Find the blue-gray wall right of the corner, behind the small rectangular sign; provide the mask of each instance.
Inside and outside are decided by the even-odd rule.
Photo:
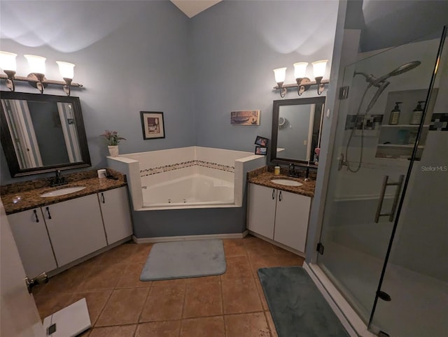
[[[197,145],[253,151],[255,136],[270,138],[280,99],[272,69],[288,67],[285,83],[295,83],[293,63],[331,59],[336,16],[337,1],[223,1],[193,17]],[[260,126],[231,126],[235,110],[261,110]]]

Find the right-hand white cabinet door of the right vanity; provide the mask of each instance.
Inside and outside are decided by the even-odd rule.
[[[311,198],[278,191],[274,241],[305,251]]]

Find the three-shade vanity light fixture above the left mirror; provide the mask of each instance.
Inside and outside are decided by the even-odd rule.
[[[15,76],[16,64],[15,57],[17,54],[13,52],[0,51],[0,68],[6,75],[0,74],[1,80],[6,80],[6,87],[10,91],[15,91],[14,81],[26,81],[32,87],[35,87],[43,94],[43,89],[48,85],[61,85],[67,96],[70,96],[71,87],[83,87],[79,83],[73,83],[73,68],[74,64],[69,62],[57,61],[59,72],[64,78],[64,81],[47,80],[45,78],[45,57],[36,55],[24,55],[28,61],[31,73],[27,77]]]

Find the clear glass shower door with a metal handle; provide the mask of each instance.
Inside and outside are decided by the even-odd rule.
[[[413,124],[414,110],[428,100],[438,42],[400,45],[344,71],[317,263],[366,324],[376,295],[389,300],[377,288],[403,184],[425,148],[429,127]]]

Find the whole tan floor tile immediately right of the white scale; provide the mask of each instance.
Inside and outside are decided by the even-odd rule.
[[[114,290],[96,325],[102,327],[137,323],[148,291],[148,288]]]

